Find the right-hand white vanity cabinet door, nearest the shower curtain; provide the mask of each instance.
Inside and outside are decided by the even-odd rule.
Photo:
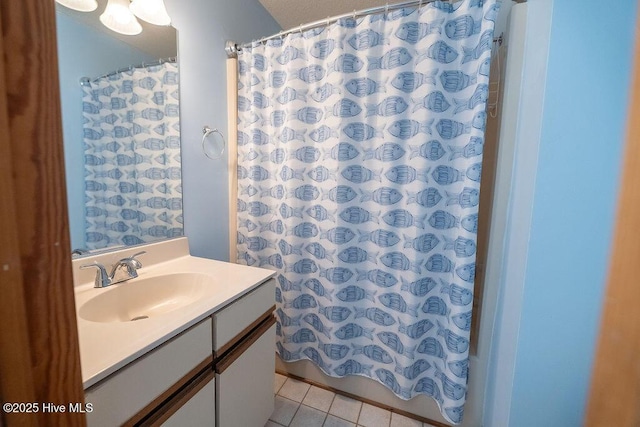
[[[217,427],[262,427],[273,412],[276,327],[254,332],[216,365]]]

